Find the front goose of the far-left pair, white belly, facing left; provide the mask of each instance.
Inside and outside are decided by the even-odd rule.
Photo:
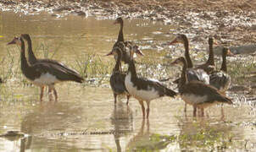
[[[20,66],[21,71],[25,75],[25,78],[31,81],[41,88],[40,100],[42,101],[44,86],[48,86],[49,92],[53,90],[55,101],[58,100],[57,91],[54,84],[63,81],[75,81],[82,83],[83,79],[77,75],[70,73],[63,68],[52,62],[36,62],[29,64],[25,57],[25,43],[22,37],[14,37],[13,41],[10,41],[8,45],[16,44],[20,46]]]

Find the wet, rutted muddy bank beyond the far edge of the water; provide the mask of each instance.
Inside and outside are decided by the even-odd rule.
[[[225,46],[252,44],[256,40],[255,2],[241,1],[0,1],[2,11],[39,14],[46,11],[56,18],[75,14],[82,17],[152,19],[175,25],[171,33],[185,33],[192,43],[204,45],[214,35]],[[203,43],[203,44],[202,44]]]

